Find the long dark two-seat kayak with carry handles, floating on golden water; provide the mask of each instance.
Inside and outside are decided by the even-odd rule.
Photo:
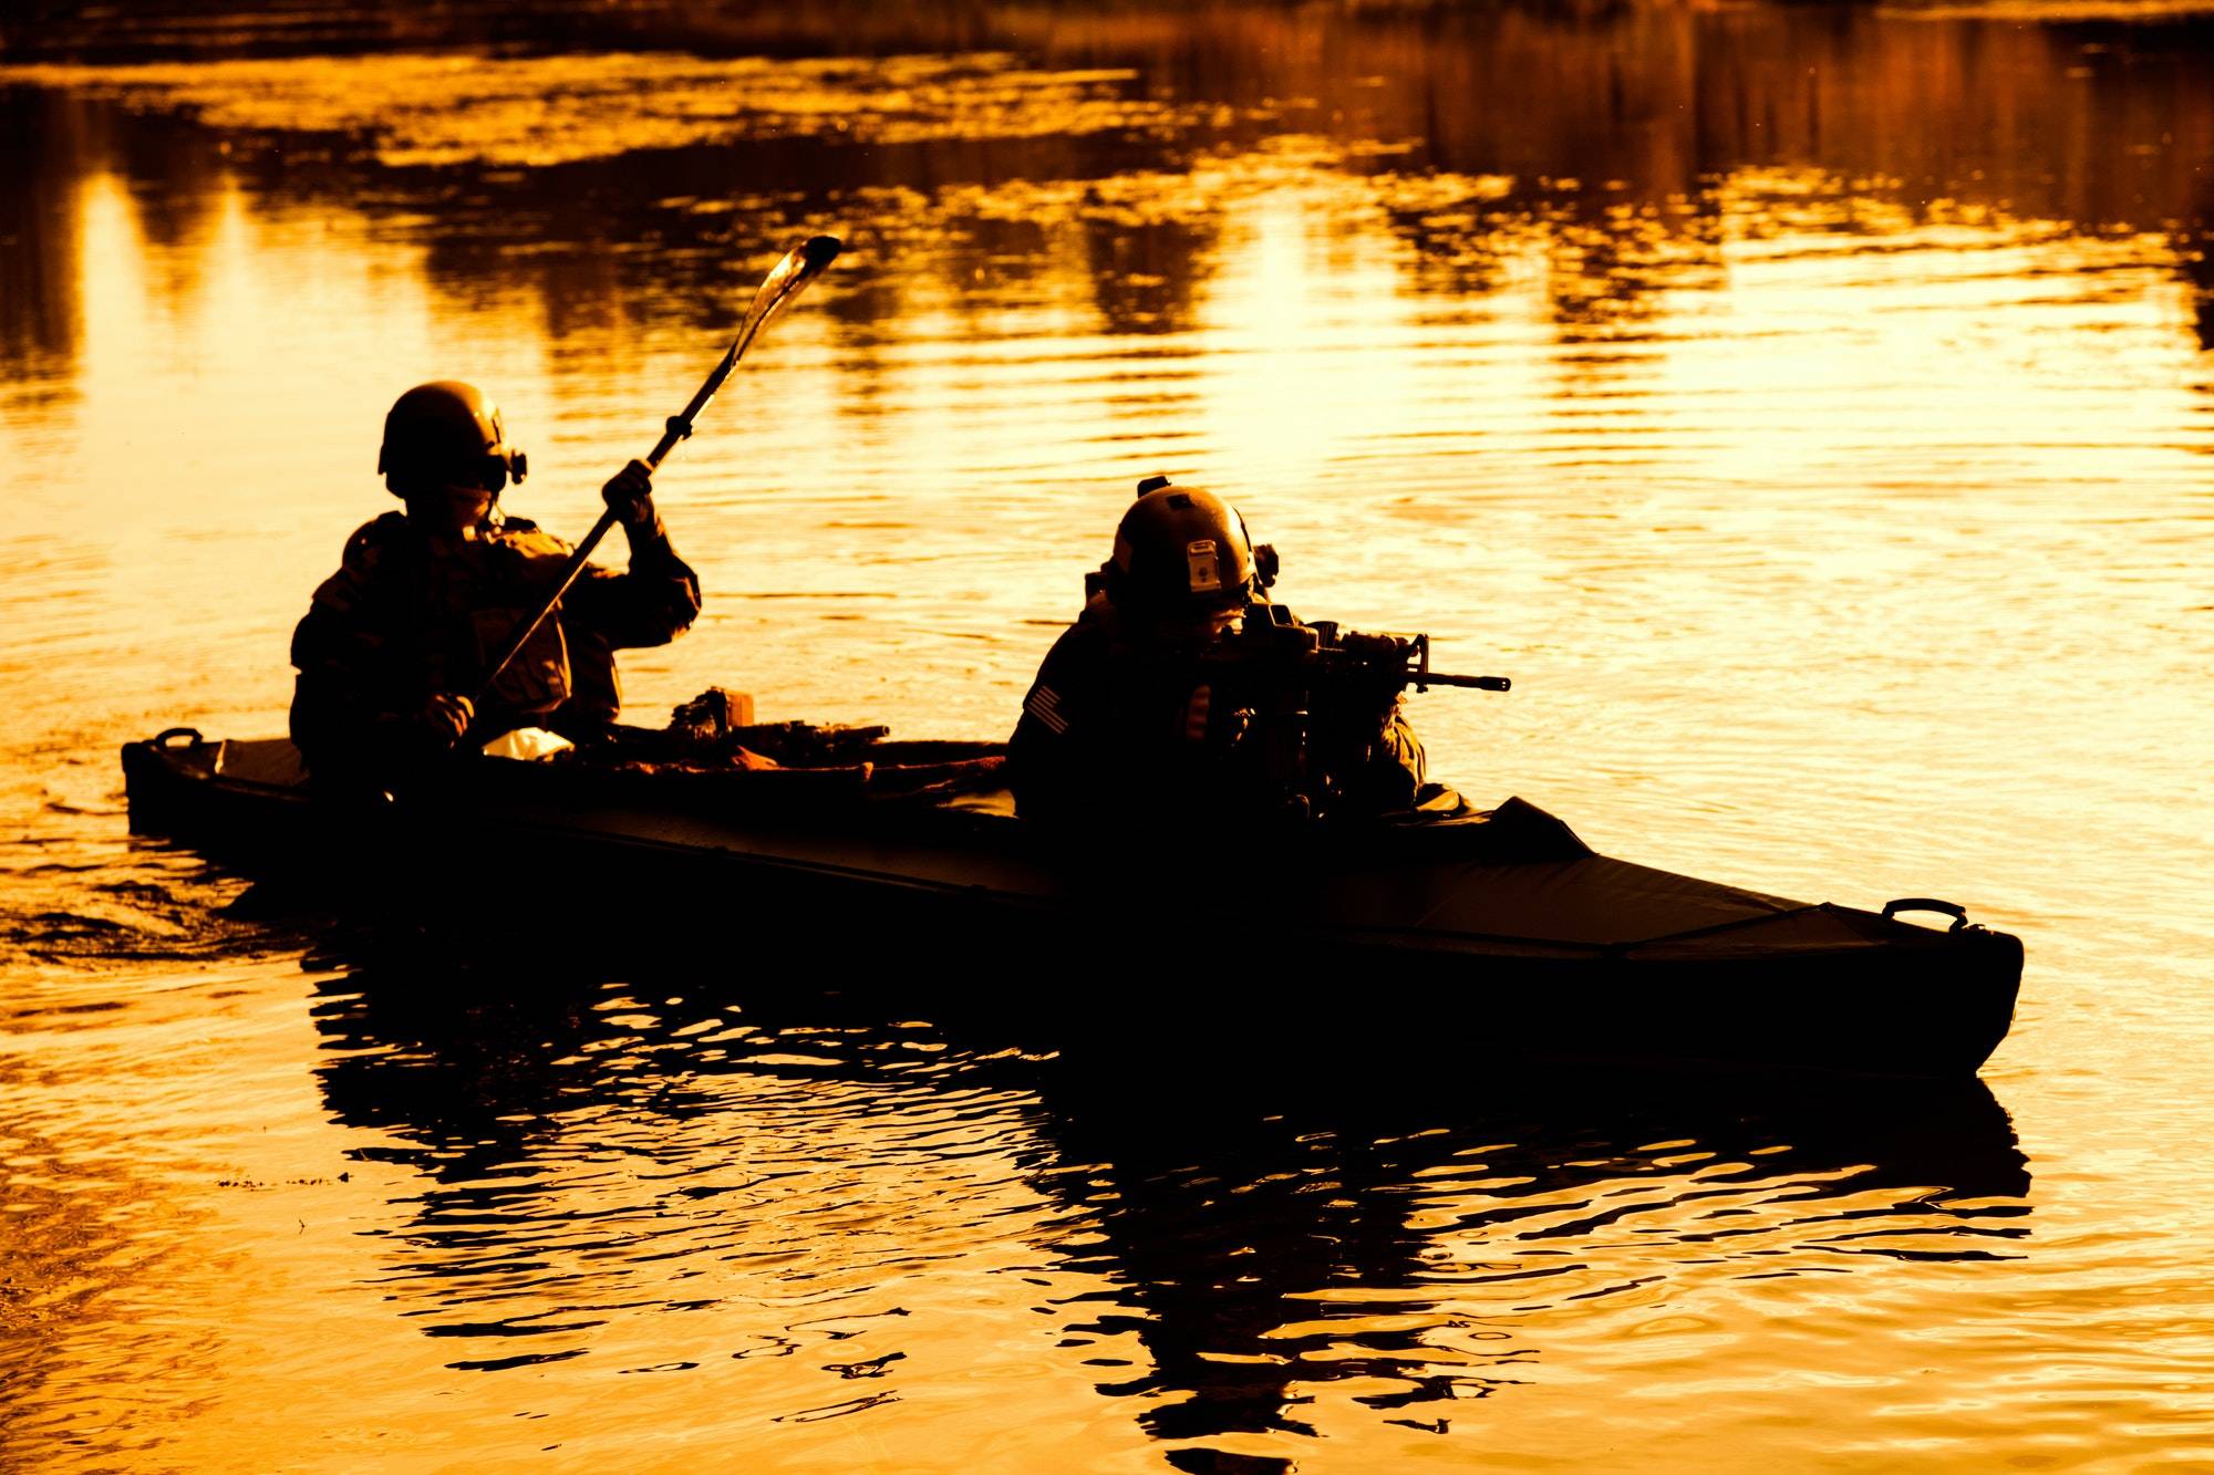
[[[1466,1070],[1957,1079],[2006,1039],[2021,981],[2021,941],[1953,904],[1869,912],[1636,866],[1523,800],[1291,826],[1231,857],[1134,853],[1018,819],[994,742],[779,724],[739,731],[744,762],[695,762],[622,731],[343,804],[281,738],[170,729],[122,762],[133,831],[248,877],[494,926],[646,915],[733,972],[1058,1008],[1087,1034],[1317,1067],[1421,1041]]]

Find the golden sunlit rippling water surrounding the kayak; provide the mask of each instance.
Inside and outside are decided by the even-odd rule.
[[[2214,1459],[2207,29],[793,27],[0,71],[0,1464]],[[742,912],[518,986],[126,835],[117,744],[281,731],[401,388],[582,532],[813,230],[633,713],[1003,733],[1173,472],[1514,678],[1417,700],[1472,795],[2019,932],[1984,1081],[1506,1085],[1357,981],[1419,1067],[1169,1083]]]

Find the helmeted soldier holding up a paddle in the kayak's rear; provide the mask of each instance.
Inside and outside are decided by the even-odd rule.
[[[571,547],[500,512],[500,489],[520,483],[527,463],[472,385],[401,394],[376,470],[407,509],[348,538],[292,633],[292,742],[323,784],[403,780],[463,735],[587,735],[622,706],[613,653],[666,644],[700,613],[700,578],[669,545],[651,470],[631,461],[600,492],[631,543],[629,571],[587,565],[480,693],[511,631],[560,582]]]

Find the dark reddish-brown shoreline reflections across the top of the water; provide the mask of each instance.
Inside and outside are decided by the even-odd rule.
[[[82,286],[64,228],[86,177],[117,168],[144,233],[190,244],[224,179],[252,195],[368,213],[427,235],[432,283],[472,299],[487,281],[536,292],[556,339],[677,317],[724,330],[739,264],[837,221],[868,286],[819,310],[863,330],[903,310],[903,286],[1043,270],[1045,230],[1085,233],[1109,332],[1182,332],[1215,270],[1238,199],[1131,193],[1269,137],[1322,137],[1335,168],[1377,179],[1377,204],[1415,248],[1424,288],[1481,295],[1503,244],[1537,230],[1563,332],[1634,332],[1656,292],[1705,264],[1722,272],[1727,188],[1760,171],[1846,182],[1853,210],[1908,219],[2004,213],[2079,233],[2172,233],[2214,345],[2214,22],[1902,22],[1866,7],[1815,13],[1678,7],[1280,7],[1200,13],[1114,7],[33,7],[0,22],[4,62],[330,55],[469,49],[498,55],[1012,55],[1067,69],[1127,111],[1085,133],[1001,137],[981,124],[857,140],[837,115],[773,117],[728,142],[620,146],[516,168],[503,159],[387,162],[376,126],[312,133],[179,128],[159,100],[126,109],[0,82],[0,126],[35,148],[0,155],[0,372],[24,392],[66,383]],[[168,27],[168,29],[164,29]],[[1386,84],[1379,84],[1388,80]],[[742,102],[742,97],[739,97]],[[182,104],[179,104],[182,106]],[[717,104],[722,106],[722,104]],[[733,104],[735,106],[735,104]],[[153,115],[144,115],[155,109]],[[184,109],[190,115],[190,109]],[[1109,109],[1114,115],[1114,109]],[[1902,128],[1900,117],[1933,126]],[[954,120],[956,124],[961,120]],[[965,124],[963,124],[965,126]],[[2108,164],[2119,162],[2119,164]],[[704,208],[702,182],[744,182]],[[1010,182],[1049,186],[1034,208]],[[1435,184],[1426,184],[1435,182]],[[1488,182],[1488,184],[1486,184]],[[1446,186],[1452,188],[1446,188]],[[897,208],[881,206],[897,193]],[[917,210],[912,199],[930,202]],[[1771,215],[1820,213],[1782,197]],[[401,226],[401,221],[405,221]],[[1851,219],[1835,228],[1851,228]],[[646,250],[609,250],[609,237]],[[190,290],[190,255],[177,292]],[[857,383],[868,388],[868,374]]]

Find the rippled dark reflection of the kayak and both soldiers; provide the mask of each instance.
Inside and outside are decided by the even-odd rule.
[[[700,977],[520,992],[387,966],[330,979],[317,1019],[334,1118],[418,1176],[383,1285],[454,1338],[447,1366],[653,1358],[686,1313],[684,1347],[793,1360],[748,1373],[786,1420],[821,1371],[897,1397],[941,1333],[932,1282],[990,1271],[1007,1236],[1049,1322],[1030,1355],[1087,1369],[1198,1468],[1344,1420],[1477,1433],[1457,1404],[1537,1380],[1561,1324],[1691,1335],[1711,1380],[1756,1382],[1731,1371],[1756,1349],[1665,1309],[2019,1258],[2028,1234],[1979,1083],[1468,1083],[1410,1041],[1328,1085],[1158,1092],[1138,1061],[742,1008]]]

